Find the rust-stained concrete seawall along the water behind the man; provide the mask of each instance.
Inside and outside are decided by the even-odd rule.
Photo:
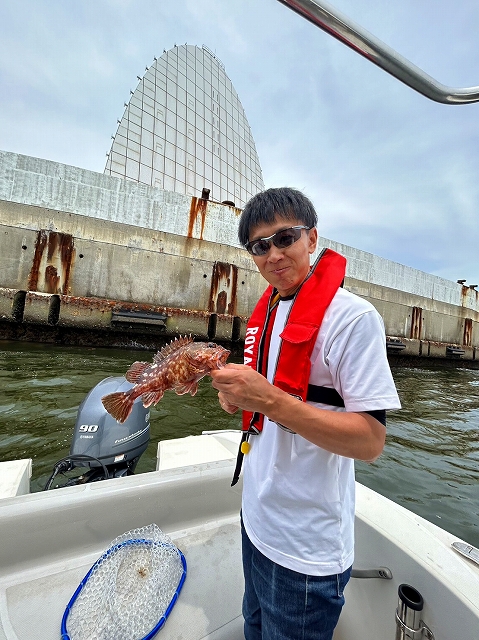
[[[0,337],[240,343],[264,281],[239,210],[0,152]],[[320,238],[384,319],[391,354],[479,361],[478,292]],[[93,338],[95,336],[95,338]],[[476,355],[477,352],[477,355]]]

